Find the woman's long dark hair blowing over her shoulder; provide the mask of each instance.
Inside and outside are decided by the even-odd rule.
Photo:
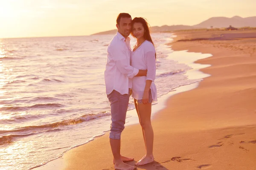
[[[149,24],[148,22],[146,21],[145,18],[143,17],[135,17],[132,21],[131,21],[131,30],[133,30],[133,26],[134,26],[134,23],[141,23],[143,25],[143,28],[145,30],[144,32],[144,38],[145,40],[148,40],[149,42],[151,42],[153,45],[154,45],[154,42],[150,36],[150,31],[149,31]],[[135,38],[134,34],[132,34],[132,31],[131,31],[131,35]],[[155,45],[154,45],[155,46]],[[155,54],[156,56],[156,54]],[[157,56],[156,56],[157,57]]]

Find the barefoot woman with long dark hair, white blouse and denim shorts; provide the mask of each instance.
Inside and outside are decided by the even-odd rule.
[[[132,96],[139,116],[144,143],[145,156],[137,161],[136,166],[154,161],[154,132],[151,125],[151,103],[157,101],[157,88],[154,84],[156,75],[156,51],[151,39],[148,23],[142,17],[132,20],[131,35],[137,39],[137,44],[131,52],[131,65],[134,68],[148,70],[147,76],[132,79]]]

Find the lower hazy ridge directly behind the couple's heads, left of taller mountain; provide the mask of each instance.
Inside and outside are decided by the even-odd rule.
[[[177,25],[177,26],[153,26],[150,28],[151,32],[166,32],[166,31],[175,31],[175,30],[184,30],[184,29],[195,29],[195,27],[192,26],[183,26],[183,25]],[[117,29],[113,29],[110,31],[104,31],[99,32],[93,35],[103,35],[103,34],[116,34]]]

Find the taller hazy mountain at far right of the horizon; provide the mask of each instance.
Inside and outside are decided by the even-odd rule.
[[[235,16],[232,18],[212,17],[200,24],[195,25],[194,27],[210,28],[211,26],[213,26],[213,28],[223,28],[223,27],[228,27],[230,25],[236,28],[247,27],[247,26],[256,27],[256,17],[247,17],[247,18],[242,18],[239,16]]]

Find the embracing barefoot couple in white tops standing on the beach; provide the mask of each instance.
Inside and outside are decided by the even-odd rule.
[[[151,39],[148,23],[142,17],[131,19],[131,15],[120,13],[116,19],[118,29],[108,45],[108,57],[105,68],[105,85],[111,105],[110,145],[116,170],[134,170],[125,164],[134,159],[120,154],[120,139],[125,128],[125,118],[130,95],[139,116],[144,143],[145,156],[136,166],[154,161],[154,132],[151,125],[151,103],[157,101],[157,88],[154,84],[156,74],[156,51]],[[131,35],[137,43],[131,49]]]

